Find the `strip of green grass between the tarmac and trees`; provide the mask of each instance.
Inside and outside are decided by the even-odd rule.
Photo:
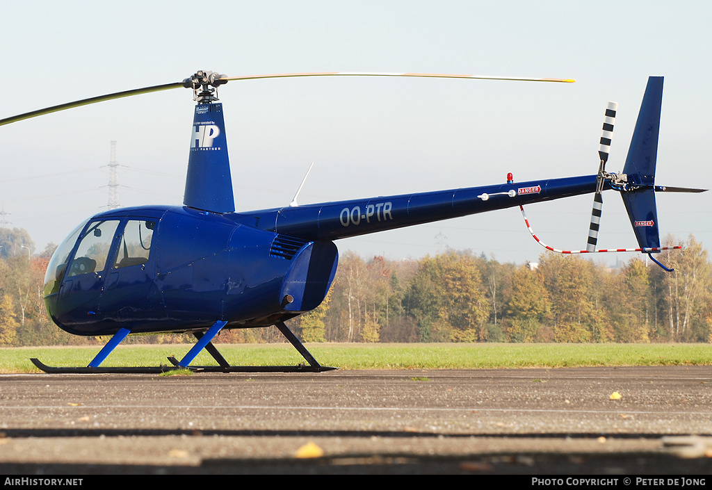
[[[217,344],[232,365],[305,363],[288,344]],[[321,365],[342,369],[562,368],[580,366],[710,365],[710,344],[338,344],[306,347]],[[181,359],[190,345],[119,346],[102,366],[157,366],[166,357]],[[0,349],[0,372],[39,372],[38,358],[51,366],[85,366],[100,347]],[[192,365],[217,365],[202,352]]]

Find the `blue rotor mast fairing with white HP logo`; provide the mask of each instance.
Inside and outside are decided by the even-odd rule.
[[[235,211],[220,103],[195,106],[183,204],[216,213]]]

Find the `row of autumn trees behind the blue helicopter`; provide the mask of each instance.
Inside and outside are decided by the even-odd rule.
[[[53,245],[33,254],[25,231],[0,229],[0,246],[0,345],[103,343],[64,333],[48,318],[41,293]],[[402,261],[347,252],[321,306],[288,325],[307,342],[712,342],[706,249],[690,236],[681,251],[656,259],[674,272],[639,257],[609,269],[590,256],[551,252],[538,264],[470,251]],[[130,339],[184,342],[189,335]],[[283,340],[276,328],[217,339]]]

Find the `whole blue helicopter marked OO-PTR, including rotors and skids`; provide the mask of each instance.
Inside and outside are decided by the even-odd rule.
[[[176,368],[219,372],[331,370],[320,365],[285,321],[317,308],[334,279],[334,241],[441,219],[595,194],[586,250],[596,250],[602,192],[622,195],[639,248],[661,247],[655,192],[702,189],[654,184],[662,77],[650,77],[622,173],[605,170],[616,106],[609,103],[597,174],[486,187],[355,199],[236,212],[226,131],[217,88],[231,80],[302,76],[411,76],[571,83],[570,79],[504,78],[426,73],[290,73],[228,77],[198,71],[181,82],[128,90],[56,105],[0,120],[0,125],[69,108],[189,88],[197,102],[183,206],[141,206],[95,214],[58,246],[48,264],[44,300],[54,323],[74,335],[112,335],[87,367],[59,368],[32,362],[45,372],[161,372]],[[527,222],[528,224],[528,222]],[[531,228],[530,228],[531,231]],[[532,232],[533,234],[533,232]],[[534,235],[534,234],[533,234]],[[535,239],[538,239],[534,235]],[[679,248],[679,247],[674,247]],[[632,249],[617,249],[629,251]],[[653,259],[655,260],[655,259]],[[658,261],[656,261],[659,264]],[[662,265],[662,264],[660,264]],[[233,366],[211,340],[223,329],[276,325],[308,365]],[[129,334],[193,333],[197,343],[172,365],[109,368],[100,364]],[[206,349],[218,366],[191,366]]]

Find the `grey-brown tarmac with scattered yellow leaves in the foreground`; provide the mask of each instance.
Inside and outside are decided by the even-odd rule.
[[[0,375],[0,474],[711,472],[712,366]]]

